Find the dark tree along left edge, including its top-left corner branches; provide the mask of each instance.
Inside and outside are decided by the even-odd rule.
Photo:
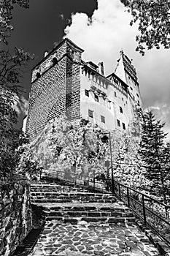
[[[13,4],[28,7],[28,0],[0,1],[0,43],[7,45],[12,26]],[[0,176],[12,178],[18,164],[20,154],[18,146],[25,143],[27,138],[23,132],[15,128],[18,115],[14,109],[15,102],[20,96],[20,83],[23,77],[23,68],[34,56],[15,48],[14,53],[9,50],[0,50]]]

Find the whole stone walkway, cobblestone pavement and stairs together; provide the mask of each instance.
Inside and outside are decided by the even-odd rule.
[[[158,256],[131,210],[112,194],[57,184],[34,184],[31,202],[45,229],[30,256]]]

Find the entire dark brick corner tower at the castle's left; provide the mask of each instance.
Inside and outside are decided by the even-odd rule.
[[[83,50],[69,39],[32,69],[26,132],[34,139],[48,121],[65,113],[80,118],[80,64]]]

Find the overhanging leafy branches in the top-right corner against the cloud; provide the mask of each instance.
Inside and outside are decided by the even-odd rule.
[[[170,48],[170,1],[169,0],[120,0],[133,19],[139,23],[139,35],[136,36],[136,51],[144,56],[144,51],[152,48]]]

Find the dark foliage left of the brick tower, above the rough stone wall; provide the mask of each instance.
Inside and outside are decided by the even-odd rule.
[[[9,177],[15,171],[19,154],[16,149],[25,138],[23,132],[15,128],[18,114],[14,109],[20,95],[20,78],[23,67],[33,59],[30,53],[15,48],[15,53],[0,51],[0,162],[1,175]]]

